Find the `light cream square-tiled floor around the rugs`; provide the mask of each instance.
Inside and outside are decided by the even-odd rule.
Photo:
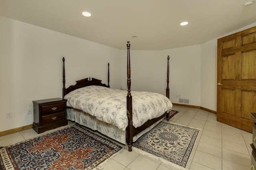
[[[178,110],[170,121],[200,128],[197,143],[190,156],[190,170],[250,170],[252,133],[216,121],[216,115],[202,109],[173,106]],[[69,122],[68,125],[72,125]],[[63,127],[59,127],[60,129]],[[54,131],[56,129],[50,130]],[[46,131],[44,133],[49,133]],[[8,146],[41,134],[33,129],[0,137],[0,146]],[[158,160],[127,148],[98,167],[103,170],[175,170]]]

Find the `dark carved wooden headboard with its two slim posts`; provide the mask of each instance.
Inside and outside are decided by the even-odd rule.
[[[104,86],[104,87],[110,87],[109,86],[109,63],[108,63],[108,85],[102,84],[101,80],[98,80],[96,78],[84,78],[82,80],[77,80],[75,85],[69,86],[68,88],[65,88],[65,58],[63,57],[63,88],[62,88],[62,98],[69,92],[72,92],[73,90],[76,90],[78,88],[86,87],[86,86]]]

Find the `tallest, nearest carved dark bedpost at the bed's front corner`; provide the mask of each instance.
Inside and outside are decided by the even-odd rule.
[[[126,97],[127,101],[127,117],[128,117],[128,127],[126,129],[127,134],[127,144],[128,150],[132,151],[132,95],[131,95],[131,67],[130,67],[130,41],[127,41],[127,87],[128,93]]]

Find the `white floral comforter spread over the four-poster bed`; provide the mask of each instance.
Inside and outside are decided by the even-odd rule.
[[[146,121],[172,109],[170,100],[158,93],[132,91],[132,123],[140,127]],[[128,126],[126,115],[127,91],[87,86],[67,94],[67,106],[80,109],[96,119],[115,125],[123,131]]]

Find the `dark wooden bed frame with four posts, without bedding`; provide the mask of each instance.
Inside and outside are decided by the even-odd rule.
[[[169,98],[170,90],[169,90],[169,59],[170,57],[167,57],[167,87],[166,87],[166,97]],[[73,90],[76,90],[78,88],[86,87],[86,86],[104,86],[104,87],[110,87],[109,86],[109,63],[108,63],[108,85],[102,84],[101,80],[98,80],[96,78],[84,78],[82,80],[76,81],[76,84],[74,86],[69,86],[68,88],[65,88],[65,58],[63,57],[63,89],[62,89],[62,98],[69,92],[72,92]],[[126,141],[128,145],[128,150],[132,151],[132,143],[133,143],[133,137],[137,135],[138,133],[142,132],[147,127],[150,127],[160,119],[164,118],[166,116],[167,121],[169,120],[169,113],[166,113],[160,117],[148,120],[146,123],[144,123],[142,126],[135,128],[132,125],[132,94],[131,94],[131,71],[130,71],[130,42],[127,41],[127,88],[128,93],[126,96],[127,100],[127,117],[128,117],[128,127],[126,128]]]

